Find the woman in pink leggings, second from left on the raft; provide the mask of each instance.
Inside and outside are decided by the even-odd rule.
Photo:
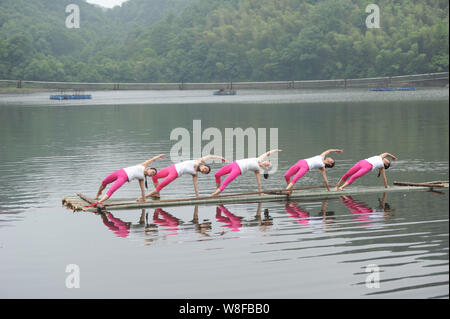
[[[199,197],[198,193],[198,184],[197,184],[197,173],[201,172],[202,174],[209,174],[211,172],[211,167],[209,165],[204,164],[205,161],[209,159],[220,159],[222,162],[225,162],[226,160],[222,156],[216,156],[216,155],[207,155],[204,156],[198,160],[190,160],[190,161],[184,161],[177,164],[172,164],[169,167],[163,168],[162,170],[158,171],[156,175],[152,176],[153,184],[155,185],[155,190],[151,193],[145,195],[145,197],[153,197],[153,198],[159,198],[160,194],[159,192],[172,183],[175,179],[178,177],[181,177],[184,174],[189,174],[192,176],[193,183],[194,183],[194,190],[195,190],[195,196]],[[164,178],[164,180],[161,183],[158,183],[158,180]]]

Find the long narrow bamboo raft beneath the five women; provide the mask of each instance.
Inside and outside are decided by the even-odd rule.
[[[251,203],[251,202],[273,202],[286,200],[323,200],[336,198],[339,196],[353,196],[376,194],[384,192],[412,192],[412,191],[434,191],[436,189],[448,189],[448,181],[446,182],[429,182],[429,183],[410,183],[410,182],[394,182],[394,186],[384,187],[365,187],[356,188],[349,187],[343,191],[332,189],[327,191],[324,186],[311,186],[303,188],[295,188],[288,195],[284,190],[267,190],[263,192],[228,194],[216,197],[199,197],[199,198],[182,198],[169,200],[147,200],[146,202],[137,202],[136,198],[117,198],[105,201],[102,209],[119,210],[119,209],[142,209],[142,208],[160,208],[170,206],[189,206],[189,205],[220,205],[235,203]],[[68,209],[74,211],[99,211],[97,207],[85,207],[95,203],[95,200],[81,193],[74,197],[63,197],[62,204]]]

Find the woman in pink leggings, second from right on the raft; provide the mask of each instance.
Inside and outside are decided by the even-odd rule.
[[[311,169],[318,168],[322,173],[323,181],[325,182],[325,186],[328,190],[330,190],[330,186],[328,185],[327,174],[325,172],[325,168],[332,168],[334,166],[334,159],[331,157],[326,157],[330,153],[342,153],[343,150],[338,149],[329,149],[323,152],[320,155],[310,157],[307,159],[299,160],[295,163],[288,171],[284,174],[284,179],[288,184],[286,190],[290,193],[292,192],[292,188],[295,183],[303,177]],[[291,180],[291,177],[294,176]]]

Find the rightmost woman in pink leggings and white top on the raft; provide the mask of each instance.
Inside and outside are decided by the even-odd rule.
[[[356,179],[376,169],[378,169],[378,177],[380,177],[380,175],[383,177],[384,187],[389,188],[387,184],[386,170],[389,166],[391,166],[391,162],[389,162],[386,157],[390,157],[394,161],[397,160],[397,157],[394,155],[383,153],[359,161],[352,168],[350,168],[344,176],[341,177],[339,182],[336,184],[336,190],[343,190],[348,185],[351,185]],[[344,185],[339,187],[339,185],[343,182],[345,182]]]

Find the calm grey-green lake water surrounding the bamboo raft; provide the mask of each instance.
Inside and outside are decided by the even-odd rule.
[[[106,216],[61,205],[77,192],[93,196],[116,169],[170,154],[171,132],[193,138],[194,120],[222,134],[265,128],[267,141],[277,128],[283,152],[264,189],[283,187],[290,165],[328,148],[344,150],[331,155],[333,185],[383,152],[399,158],[390,183],[448,180],[448,89],[89,93],[88,101],[0,95],[1,298],[448,298],[448,191]],[[167,156],[154,166],[169,164]],[[297,186],[321,183],[308,172]],[[382,180],[371,173],[351,187],[375,185]],[[214,186],[212,175],[199,178],[202,195]],[[226,193],[255,188],[247,174]],[[193,194],[186,176],[162,191]],[[114,194],[137,196],[137,182]],[[66,286],[69,265],[79,288]]]

